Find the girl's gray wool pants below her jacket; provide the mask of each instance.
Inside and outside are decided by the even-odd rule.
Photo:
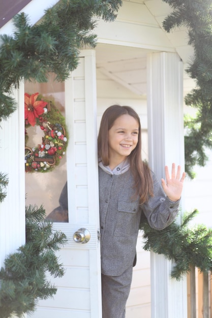
[[[125,318],[132,273],[131,266],[120,276],[102,274],[102,318]]]

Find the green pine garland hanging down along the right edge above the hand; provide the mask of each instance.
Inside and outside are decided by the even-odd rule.
[[[194,178],[193,167],[205,166],[205,149],[212,148],[212,4],[211,0],[163,1],[173,8],[163,22],[165,30],[185,25],[189,44],[194,48],[187,72],[197,86],[185,98],[186,105],[197,109],[195,118],[185,117],[185,166],[187,174]]]

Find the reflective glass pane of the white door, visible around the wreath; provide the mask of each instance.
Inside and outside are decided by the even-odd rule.
[[[25,92],[39,92],[44,97],[53,97],[55,106],[65,116],[65,83],[54,81],[53,74],[47,83],[25,82]],[[27,128],[27,145],[31,148],[42,143],[43,132],[39,126]],[[26,205],[43,205],[47,219],[68,222],[67,162],[66,154],[51,172],[25,173]]]

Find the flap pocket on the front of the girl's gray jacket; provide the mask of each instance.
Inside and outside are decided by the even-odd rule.
[[[118,201],[114,236],[136,235],[139,202]]]

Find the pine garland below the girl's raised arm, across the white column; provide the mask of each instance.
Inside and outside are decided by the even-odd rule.
[[[152,229],[144,215],[140,224],[144,233],[143,248],[173,261],[171,277],[177,280],[187,274],[191,266],[205,273],[212,271],[212,229],[204,225],[189,227],[197,213],[198,210],[185,213],[182,224],[175,221],[161,231]]]

